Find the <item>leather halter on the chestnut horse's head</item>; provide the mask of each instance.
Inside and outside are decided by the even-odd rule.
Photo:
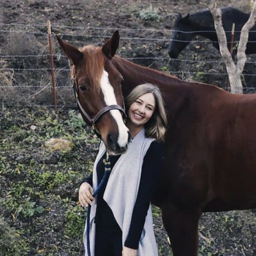
[[[125,104],[123,103],[124,108],[122,108],[119,105],[108,105],[106,107],[103,107],[102,110],[100,110],[93,118],[91,118],[88,113],[84,110],[79,98],[78,98],[78,85],[77,85],[77,79],[75,78],[75,71],[74,74],[72,75],[71,78],[71,84],[72,84],[72,88],[74,91],[74,95],[75,95],[75,99],[77,101],[77,105],[79,108],[79,111],[83,114],[83,116],[86,117],[88,123],[90,126],[92,126],[93,131],[95,132],[95,134],[98,136],[99,139],[101,139],[101,134],[99,134],[99,132],[95,129],[95,124],[96,122],[99,120],[99,118],[104,115],[106,112],[110,111],[110,110],[120,110],[126,119],[126,113],[125,113]],[[124,102],[124,99],[123,99]]]

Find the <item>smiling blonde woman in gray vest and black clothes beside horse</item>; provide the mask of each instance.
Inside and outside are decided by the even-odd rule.
[[[167,117],[162,95],[153,84],[135,87],[126,98],[127,127],[132,141],[123,155],[110,156],[111,173],[95,198],[104,172],[101,143],[93,174],[80,183],[79,201],[92,205],[90,248],[96,256],[158,255],[150,208],[162,168]],[[86,237],[84,238],[86,240]],[[84,243],[86,248],[86,241]],[[86,249],[87,251],[87,249]]]

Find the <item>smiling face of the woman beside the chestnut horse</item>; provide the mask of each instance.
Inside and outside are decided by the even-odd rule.
[[[141,95],[129,108],[129,121],[131,124],[143,127],[149,121],[155,110],[153,93]]]

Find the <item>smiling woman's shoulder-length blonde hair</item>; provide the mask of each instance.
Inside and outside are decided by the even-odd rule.
[[[126,97],[125,106],[127,110],[129,110],[130,106],[136,101],[136,99],[141,95],[150,92],[153,93],[156,106],[153,115],[144,126],[145,135],[146,137],[151,137],[158,141],[164,141],[164,135],[167,129],[167,115],[164,109],[162,93],[157,86],[154,86],[151,83],[136,86]]]

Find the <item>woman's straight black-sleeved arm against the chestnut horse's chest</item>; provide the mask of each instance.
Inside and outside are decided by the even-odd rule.
[[[141,232],[162,165],[163,144],[153,141],[143,160],[138,196],[132,212],[129,233],[125,241],[125,246],[128,248],[138,249]]]

